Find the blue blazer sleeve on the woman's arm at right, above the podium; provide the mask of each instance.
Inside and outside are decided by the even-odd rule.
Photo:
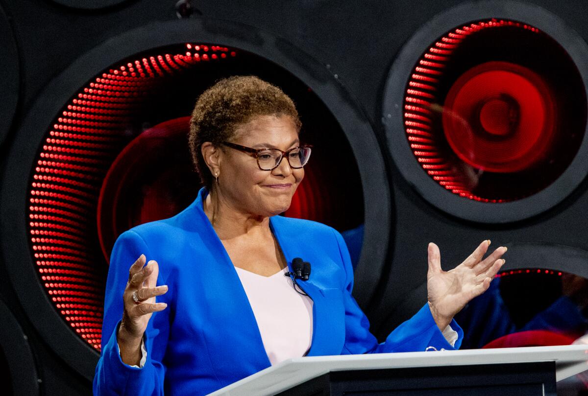
[[[378,344],[376,337],[369,331],[369,321],[355,298],[353,290],[353,267],[349,251],[341,234],[333,230],[339,252],[345,269],[345,287],[343,290],[343,304],[345,307],[345,344],[342,354],[387,353],[387,352],[417,352],[427,348],[433,350],[458,349],[463,339],[463,330],[452,320],[450,326],[457,331],[457,341],[452,347],[437,327],[428,303],[404,323],[400,324],[386,337],[386,341]]]

